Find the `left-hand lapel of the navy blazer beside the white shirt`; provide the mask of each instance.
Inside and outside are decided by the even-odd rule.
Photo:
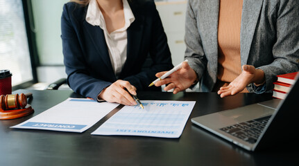
[[[107,68],[114,73],[103,30],[99,26],[92,26],[88,24],[87,21],[84,21],[83,26],[85,27],[92,43],[94,44],[94,48],[96,48],[97,53],[99,53],[98,56],[101,57]]]

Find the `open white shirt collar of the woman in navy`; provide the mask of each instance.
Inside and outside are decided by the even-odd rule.
[[[129,6],[129,3],[127,0],[122,0],[123,1],[123,12],[125,16],[125,26],[123,28],[120,28],[116,31],[123,31],[126,30],[130,24],[133,23],[135,20],[135,17],[133,15],[133,12]],[[103,17],[103,14],[98,6],[98,2],[96,0],[90,0],[89,1],[89,6],[87,8],[87,14],[85,17],[86,21],[91,24],[92,26],[100,26],[103,30],[106,30],[107,28],[105,25],[105,19]]]

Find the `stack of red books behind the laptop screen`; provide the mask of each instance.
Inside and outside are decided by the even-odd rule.
[[[273,97],[284,99],[291,90],[291,86],[295,83],[297,72],[277,75],[277,82],[273,82]]]

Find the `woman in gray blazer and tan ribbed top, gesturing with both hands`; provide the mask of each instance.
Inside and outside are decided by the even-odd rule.
[[[241,91],[264,93],[273,89],[276,75],[292,73],[299,68],[299,1],[244,0],[239,24],[239,75],[215,90],[219,82],[219,22],[223,0],[189,0],[185,26],[187,46],[182,68],[157,82],[168,84],[165,91],[178,93],[200,82],[200,91],[218,91],[221,97]],[[233,1],[227,6],[239,3]],[[234,7],[232,7],[233,10]],[[233,10],[228,10],[234,12]],[[229,18],[225,18],[229,19]],[[236,19],[237,20],[237,19]],[[237,22],[237,21],[236,21]],[[225,34],[224,34],[225,35]],[[224,55],[224,59],[225,59]],[[236,57],[237,58],[237,57]],[[165,72],[157,73],[160,77]]]

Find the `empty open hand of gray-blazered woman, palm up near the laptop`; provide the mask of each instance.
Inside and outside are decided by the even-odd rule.
[[[243,65],[243,71],[228,86],[222,86],[218,91],[221,98],[235,95],[243,91],[250,83],[262,84],[265,81],[264,71],[256,69],[255,66]]]

